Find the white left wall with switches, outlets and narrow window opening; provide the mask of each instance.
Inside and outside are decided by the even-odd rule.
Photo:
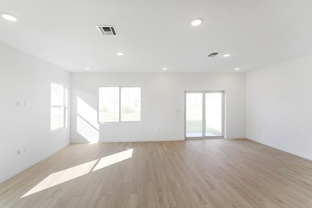
[[[70,73],[0,42],[0,182],[70,143],[69,128],[50,132],[51,81]]]

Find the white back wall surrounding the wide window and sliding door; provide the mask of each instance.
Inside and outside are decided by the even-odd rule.
[[[72,73],[71,83],[73,143],[184,139],[184,91],[196,90],[225,90],[226,138],[245,138],[245,74]],[[142,87],[141,122],[98,125],[98,86]]]

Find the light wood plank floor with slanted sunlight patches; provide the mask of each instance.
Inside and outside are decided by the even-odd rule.
[[[73,144],[0,184],[0,207],[312,208],[312,161],[247,139]]]

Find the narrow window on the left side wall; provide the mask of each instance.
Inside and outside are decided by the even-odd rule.
[[[51,132],[66,127],[65,86],[51,83]]]

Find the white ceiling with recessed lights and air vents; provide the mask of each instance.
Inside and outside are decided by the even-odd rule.
[[[312,0],[0,0],[0,12],[19,18],[0,18],[0,41],[70,72],[246,72],[312,53]]]

